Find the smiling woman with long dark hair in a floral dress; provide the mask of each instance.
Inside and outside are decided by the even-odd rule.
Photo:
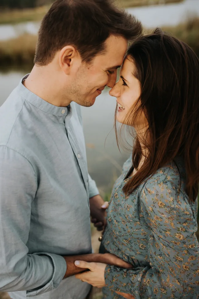
[[[133,269],[80,262],[91,271],[77,277],[108,299],[199,298],[199,60],[157,29],[131,45],[110,95],[136,139],[102,245]]]

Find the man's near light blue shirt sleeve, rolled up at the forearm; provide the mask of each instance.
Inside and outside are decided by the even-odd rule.
[[[36,191],[36,173],[27,158],[0,146],[0,291],[27,291],[27,297],[55,289],[67,268],[59,255],[28,254]]]

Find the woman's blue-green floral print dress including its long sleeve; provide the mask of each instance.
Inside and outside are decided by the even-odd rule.
[[[160,168],[130,195],[122,188],[132,159],[116,181],[102,246],[133,265],[132,270],[107,266],[103,298],[199,298],[197,200],[185,190],[185,168],[178,158]]]

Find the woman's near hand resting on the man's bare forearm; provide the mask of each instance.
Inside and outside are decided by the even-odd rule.
[[[103,286],[105,286],[104,272],[107,264],[75,261],[75,266],[84,269],[87,268],[90,270],[80,274],[76,274],[76,278],[98,288],[102,288]]]

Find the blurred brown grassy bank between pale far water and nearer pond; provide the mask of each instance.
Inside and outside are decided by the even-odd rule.
[[[130,1],[130,0],[129,0]],[[187,21],[176,27],[163,28],[193,48],[199,57],[199,18]],[[16,39],[0,42],[0,64],[5,65],[32,64],[35,54],[37,36],[24,34]]]

